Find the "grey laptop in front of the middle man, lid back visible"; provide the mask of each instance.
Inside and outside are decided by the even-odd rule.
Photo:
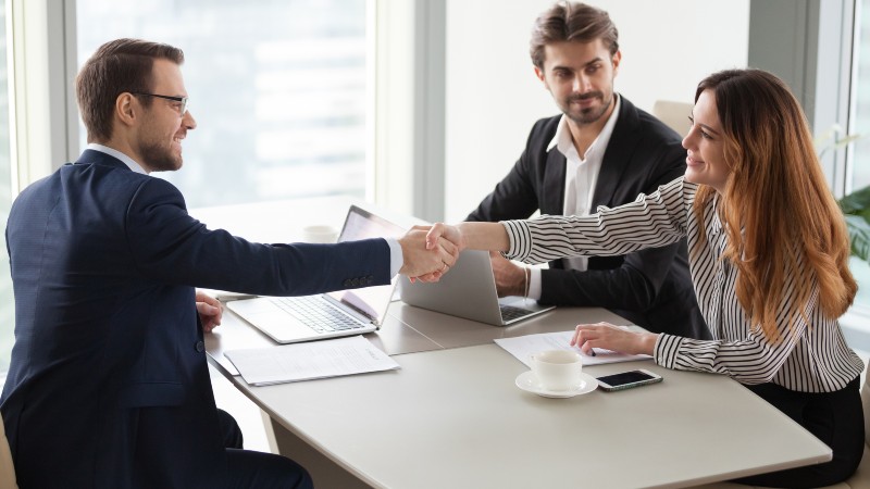
[[[508,326],[554,309],[521,297],[498,298],[489,253],[465,250],[440,280],[399,279],[401,300],[410,305],[496,326]]]

